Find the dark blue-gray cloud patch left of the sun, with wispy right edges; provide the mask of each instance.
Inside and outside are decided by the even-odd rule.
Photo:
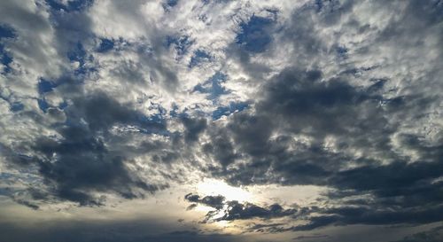
[[[166,128],[164,123],[149,121],[104,93],[75,98],[63,112],[73,124],[57,128],[61,137],[38,137],[30,144],[35,152],[30,159],[38,165],[53,195],[80,205],[100,205],[100,198],[91,197],[89,191],[115,191],[132,199],[143,196],[136,189],[153,192],[163,187],[143,181],[128,169],[125,162],[131,159],[130,154],[119,151],[123,145],[110,129],[120,124],[156,132]]]

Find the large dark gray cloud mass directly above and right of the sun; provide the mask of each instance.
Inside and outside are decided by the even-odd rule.
[[[385,152],[389,149],[385,135],[392,133],[393,128],[388,126],[384,110],[379,106],[382,98],[339,79],[322,81],[321,76],[320,71],[284,70],[265,86],[263,99],[255,105],[255,113],[232,116],[220,133],[231,135],[234,142],[231,147],[242,152],[242,157],[253,158],[253,163],[238,168],[238,174],[233,172],[235,167],[226,171],[233,176],[232,182],[260,183],[252,176],[273,179],[264,175],[272,168],[279,174],[275,179],[285,178],[283,183],[327,183],[324,178],[344,168],[352,159],[346,157],[346,153],[325,149],[323,142],[328,136],[337,137],[338,148],[344,150],[355,147],[367,152]],[[271,138],[274,132],[281,134]],[[294,142],[291,135],[310,137],[312,144],[299,143],[297,150],[291,152],[288,150]],[[229,144],[229,141],[221,142],[220,138],[215,137],[213,145]],[[232,162],[234,160],[230,160]],[[369,159],[361,162],[369,162]],[[225,163],[221,161],[221,164]],[[291,176],[293,173],[299,176]],[[278,180],[272,182],[279,183]]]

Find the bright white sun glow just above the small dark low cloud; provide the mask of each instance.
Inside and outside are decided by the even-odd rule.
[[[240,187],[234,187],[220,180],[204,179],[197,184],[198,194],[201,195],[221,195],[227,200],[237,200],[239,202],[253,201],[253,194]]]

